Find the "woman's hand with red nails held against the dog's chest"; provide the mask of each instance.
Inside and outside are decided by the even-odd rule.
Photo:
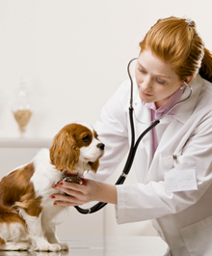
[[[53,187],[65,194],[55,193],[51,198],[55,199],[54,205],[81,206],[92,201],[117,204],[117,187],[86,180],[86,185],[61,182]]]

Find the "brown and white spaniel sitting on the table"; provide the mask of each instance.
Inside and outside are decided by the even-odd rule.
[[[28,164],[13,170],[0,182],[0,250],[67,250],[55,234],[54,219],[65,207],[54,206],[52,185],[66,174],[94,173],[104,144],[85,124],[70,124]],[[62,192],[61,192],[62,193]]]

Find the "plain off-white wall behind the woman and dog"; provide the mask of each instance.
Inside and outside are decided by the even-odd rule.
[[[11,105],[21,76],[34,112],[26,137],[52,138],[74,121],[93,125],[158,18],[191,17],[212,50],[211,7],[211,0],[0,0],[0,137],[19,136]],[[114,213],[109,223],[115,234]],[[134,223],[118,233],[139,230]]]

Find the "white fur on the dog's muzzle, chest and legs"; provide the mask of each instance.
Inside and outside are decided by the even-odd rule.
[[[93,133],[93,128],[89,128]],[[101,143],[93,136],[93,141],[88,147],[80,148],[80,157],[75,172],[83,175],[86,170],[91,170],[89,161],[96,161],[103,154],[103,150],[97,145]],[[103,144],[102,144],[103,145]],[[52,185],[57,184],[63,177],[61,171],[58,171],[50,163],[49,150],[42,149],[33,159],[35,172],[30,180],[34,185],[37,197],[41,197],[42,211],[39,217],[27,214],[24,209],[19,208],[20,216],[25,220],[27,228],[21,224],[1,223],[0,237],[5,240],[6,245],[0,246],[0,250],[33,250],[41,251],[60,251],[67,250],[66,243],[59,242],[55,235],[55,218],[65,207],[54,206],[53,199],[50,198],[56,192]],[[24,165],[23,165],[24,166]],[[63,193],[57,190],[57,193]]]

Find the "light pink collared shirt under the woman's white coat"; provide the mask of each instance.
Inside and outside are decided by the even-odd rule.
[[[179,88],[178,90],[176,90],[176,92],[172,95],[170,100],[168,100],[164,105],[162,105],[158,109],[156,108],[154,102],[146,103],[145,101],[142,100],[143,105],[148,107],[151,111],[151,121],[155,121],[159,119],[168,109],[172,107],[172,105],[178,102],[181,99],[184,90],[185,90],[185,86],[183,89]],[[178,108],[178,105],[173,107],[173,109],[168,113],[168,115],[174,115],[177,111],[177,108]],[[157,139],[157,133],[155,128],[152,128],[151,134],[152,134],[152,157],[153,157],[158,146],[158,139]]]

